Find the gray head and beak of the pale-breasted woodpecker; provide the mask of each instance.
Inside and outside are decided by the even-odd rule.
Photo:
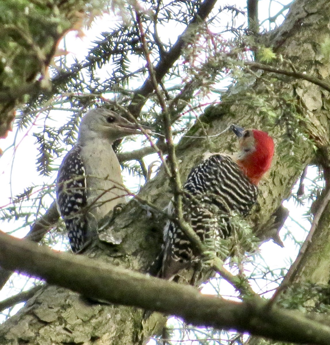
[[[92,109],[81,120],[78,141],[104,138],[114,142],[129,134],[142,134],[139,127],[146,128],[129,122],[114,111],[104,108]]]

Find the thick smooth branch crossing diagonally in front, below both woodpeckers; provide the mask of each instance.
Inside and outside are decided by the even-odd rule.
[[[175,314],[194,325],[237,329],[285,342],[317,345],[328,345],[330,342],[330,327],[311,321],[298,312],[267,308],[266,301],[259,297],[238,303],[202,295],[191,286],[142,275],[83,256],[56,253],[4,233],[0,233],[0,264],[86,296]]]

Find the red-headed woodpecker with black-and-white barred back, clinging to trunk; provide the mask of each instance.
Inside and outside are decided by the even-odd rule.
[[[236,125],[231,125],[231,130],[240,138],[237,156],[209,155],[191,170],[183,186],[183,216],[201,241],[228,237],[231,211],[248,215],[257,200],[257,185],[274,155],[274,142],[267,133]],[[164,229],[158,276],[173,277],[196,262],[199,254],[183,231],[169,222]]]

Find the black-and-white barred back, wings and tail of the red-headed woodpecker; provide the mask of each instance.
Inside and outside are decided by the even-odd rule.
[[[184,219],[201,241],[230,236],[230,211],[248,215],[256,203],[258,188],[236,162],[226,155],[212,155],[190,172],[184,184]],[[169,279],[180,269],[196,262],[199,253],[173,222],[164,230],[162,268],[159,275]]]

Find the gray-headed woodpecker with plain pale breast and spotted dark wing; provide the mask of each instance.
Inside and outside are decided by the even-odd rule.
[[[126,192],[114,141],[141,134],[138,126],[107,109],[89,110],[81,120],[77,144],[60,165],[57,208],[64,219],[72,252],[83,252],[98,236],[98,221]]]

